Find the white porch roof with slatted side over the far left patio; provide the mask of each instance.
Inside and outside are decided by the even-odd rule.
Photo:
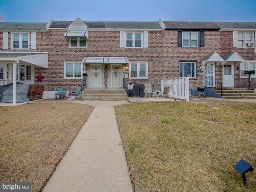
[[[0,62],[30,63],[43,68],[48,68],[48,52],[0,52]]]

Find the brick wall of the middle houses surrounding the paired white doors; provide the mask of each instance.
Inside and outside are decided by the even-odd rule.
[[[48,34],[48,36],[46,35]],[[42,74],[45,89],[53,90],[60,86],[66,90],[74,90],[80,86],[82,80],[64,80],[64,61],[82,61],[85,57],[121,57],[125,56],[129,61],[148,62],[148,80],[134,80],[134,82],[152,83],[157,85],[161,78],[156,73],[160,70],[154,70],[155,66],[159,68],[160,54],[162,53],[161,32],[149,32],[149,47],[142,49],[120,48],[119,31],[90,31],[88,48],[68,48],[68,41],[64,38],[64,32],[47,31],[37,34],[37,51],[48,51],[48,70],[36,67],[36,76]],[[104,85],[107,88],[107,68],[104,70]],[[128,71],[126,72],[128,74]],[[158,85],[159,86],[159,85]]]

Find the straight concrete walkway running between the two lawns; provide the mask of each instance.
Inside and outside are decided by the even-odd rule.
[[[128,102],[88,103],[94,110],[43,192],[133,192],[114,110]]]

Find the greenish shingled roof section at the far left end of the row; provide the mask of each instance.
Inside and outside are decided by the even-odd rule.
[[[0,30],[45,30],[47,23],[0,22]]]

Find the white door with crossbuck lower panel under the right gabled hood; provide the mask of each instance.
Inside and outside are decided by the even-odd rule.
[[[234,87],[234,64],[223,65],[222,83],[224,87]]]

